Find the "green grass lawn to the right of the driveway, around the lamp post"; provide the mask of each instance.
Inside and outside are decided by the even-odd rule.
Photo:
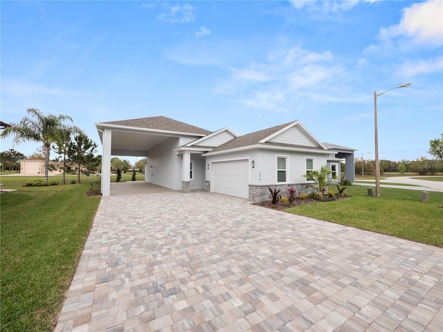
[[[352,197],[284,212],[443,247],[442,192],[429,192],[428,203],[419,190],[382,187],[380,197],[369,197],[366,187],[353,185],[346,194]]]

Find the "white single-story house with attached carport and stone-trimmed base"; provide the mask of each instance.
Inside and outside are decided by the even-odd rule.
[[[156,116],[96,123],[102,142],[102,194],[110,194],[111,156],[147,157],[145,181],[172,190],[206,190],[252,201],[268,188],[305,192],[307,172],[327,165],[354,182],[354,151],[320,142],[300,121],[244,136],[228,128],[208,131]]]

